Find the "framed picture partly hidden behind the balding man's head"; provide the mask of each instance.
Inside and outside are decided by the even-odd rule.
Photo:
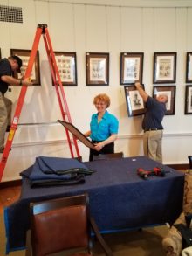
[[[176,86],[154,86],[153,97],[158,97],[161,94],[168,96],[168,102],[166,103],[167,113],[166,115],[175,114],[175,93]]]

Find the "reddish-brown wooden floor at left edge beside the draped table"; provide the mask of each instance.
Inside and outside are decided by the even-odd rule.
[[[17,199],[20,197],[20,193],[20,185],[0,188],[0,214],[3,213],[3,207],[17,201]]]

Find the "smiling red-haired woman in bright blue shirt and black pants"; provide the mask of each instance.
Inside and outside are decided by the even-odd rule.
[[[105,93],[94,97],[93,104],[98,113],[92,115],[90,130],[85,134],[95,143],[95,149],[90,149],[89,161],[93,161],[93,155],[114,153],[119,128],[117,118],[106,110],[110,106],[110,98]]]

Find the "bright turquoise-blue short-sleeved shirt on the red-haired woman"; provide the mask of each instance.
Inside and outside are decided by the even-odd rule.
[[[118,134],[119,121],[113,114],[107,111],[98,123],[98,114],[92,115],[90,123],[91,139],[96,142],[105,141],[112,134]]]

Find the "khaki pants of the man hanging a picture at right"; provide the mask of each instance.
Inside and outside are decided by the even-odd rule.
[[[147,131],[143,135],[144,155],[162,163],[162,130]]]

